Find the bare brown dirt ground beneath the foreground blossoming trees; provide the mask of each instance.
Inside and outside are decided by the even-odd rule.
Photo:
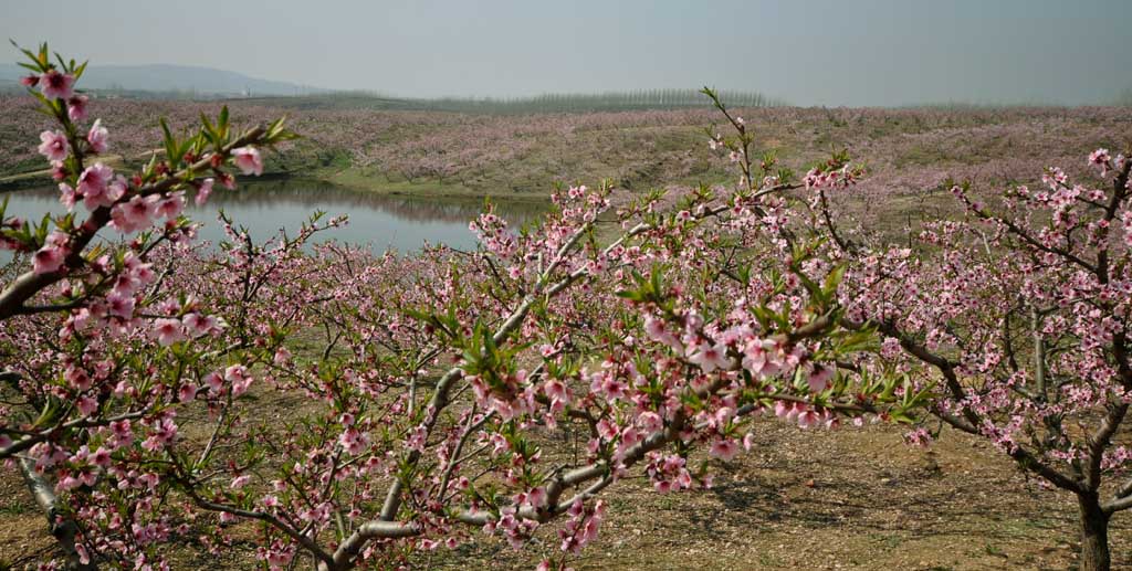
[[[600,539],[571,561],[577,571],[677,570],[1070,570],[1073,499],[1039,488],[987,443],[944,432],[928,449],[893,426],[803,432],[774,419],[757,444],[713,467],[712,490],[659,494],[643,479],[616,484]],[[533,569],[557,556],[540,533],[523,551],[484,538],[444,548],[417,569]],[[1132,566],[1132,518],[1110,531],[1114,568]],[[18,474],[0,471],[0,561],[33,565],[51,551],[42,516]],[[178,548],[174,569],[252,569],[251,548],[201,557]],[[0,569],[2,569],[0,564]]]

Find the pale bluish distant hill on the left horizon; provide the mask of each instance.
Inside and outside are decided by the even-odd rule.
[[[0,63],[0,89],[26,75],[14,63]],[[327,93],[327,89],[272,81],[223,69],[192,66],[91,66],[83,88],[114,92],[155,92],[190,97],[280,96]]]

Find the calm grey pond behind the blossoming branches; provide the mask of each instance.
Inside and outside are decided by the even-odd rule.
[[[44,213],[63,214],[55,188],[28,189],[0,194],[8,198],[6,216],[38,219]],[[517,227],[547,210],[547,202],[497,201],[496,210]],[[475,236],[468,223],[483,208],[477,199],[385,196],[335,187],[325,182],[281,180],[242,183],[235,191],[216,187],[208,204],[197,207],[191,197],[186,214],[203,223],[199,240],[217,243],[225,240],[217,214],[223,210],[237,226],[245,226],[257,242],[271,239],[281,227],[294,235],[316,210],[331,216],[348,215],[349,224],[319,234],[317,241],[336,240],[369,244],[376,253],[387,249],[412,252],[424,245],[443,243],[458,249],[475,248]],[[76,206],[82,219],[83,206]],[[325,218],[324,218],[325,219]],[[117,236],[111,230],[106,237]],[[10,254],[9,254],[10,258]]]

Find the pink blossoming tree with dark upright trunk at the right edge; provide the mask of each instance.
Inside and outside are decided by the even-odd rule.
[[[916,250],[852,242],[820,210],[830,256],[851,260],[843,325],[886,337],[932,415],[1073,493],[1091,571],[1109,569],[1108,520],[1132,508],[1132,161],[1098,149],[1088,164],[1094,182],[1049,168],[994,205],[954,185],[966,217],[928,222]]]

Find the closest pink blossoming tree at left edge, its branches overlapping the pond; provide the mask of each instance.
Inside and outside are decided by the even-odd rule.
[[[115,174],[98,161],[109,130],[98,120],[82,124],[89,109],[76,85],[86,66],[52,63],[46,46],[25,54],[33,73],[23,83],[59,126],[42,133],[38,150],[70,214],[22,220],[0,211],[0,246],[31,259],[0,292],[11,397],[0,409],[0,458],[24,471],[69,566],[93,559],[145,566],[149,545],[172,531],[155,505],[162,477],[144,468],[179,438],[171,406],[238,396],[250,377],[197,390],[207,378],[200,367],[254,360],[233,356],[249,338],[217,347],[230,341],[221,306],[169,287],[173,261],[191,254],[195,235],[181,215],[185,196],[199,197],[213,178],[231,183],[224,167],[233,149],[292,136],[281,122],[237,136],[224,110],[190,137],[165,127],[163,161]],[[123,241],[97,239],[108,226]]]

